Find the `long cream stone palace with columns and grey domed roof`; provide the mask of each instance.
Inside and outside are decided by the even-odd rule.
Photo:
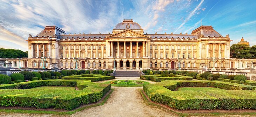
[[[27,41],[28,68],[42,68],[45,61],[45,68],[57,63],[63,69],[118,70],[198,69],[200,63],[229,69],[232,40],[212,26],[200,26],[191,34],[148,34],[133,20],[123,20],[112,34],[66,34],[56,26],[45,26]]]

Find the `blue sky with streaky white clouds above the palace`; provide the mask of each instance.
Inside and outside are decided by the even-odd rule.
[[[28,50],[29,34],[58,26],[66,34],[108,34],[133,19],[148,34],[213,26],[231,44],[256,44],[256,0],[0,0],[0,48]]]

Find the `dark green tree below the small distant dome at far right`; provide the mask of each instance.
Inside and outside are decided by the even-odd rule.
[[[232,57],[232,58],[251,58],[250,46],[247,44],[233,44],[230,47],[230,57]]]

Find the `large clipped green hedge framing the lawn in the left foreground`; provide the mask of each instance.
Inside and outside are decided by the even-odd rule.
[[[77,86],[79,90],[30,89],[41,86]],[[15,89],[17,87],[18,89]],[[110,84],[93,83],[88,80],[42,80],[8,84],[5,87],[0,85],[0,89],[11,89],[1,91],[0,105],[73,110],[82,104],[99,101],[110,87]]]

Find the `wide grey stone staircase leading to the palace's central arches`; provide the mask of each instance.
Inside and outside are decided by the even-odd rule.
[[[115,71],[115,77],[140,77],[140,71]]]

